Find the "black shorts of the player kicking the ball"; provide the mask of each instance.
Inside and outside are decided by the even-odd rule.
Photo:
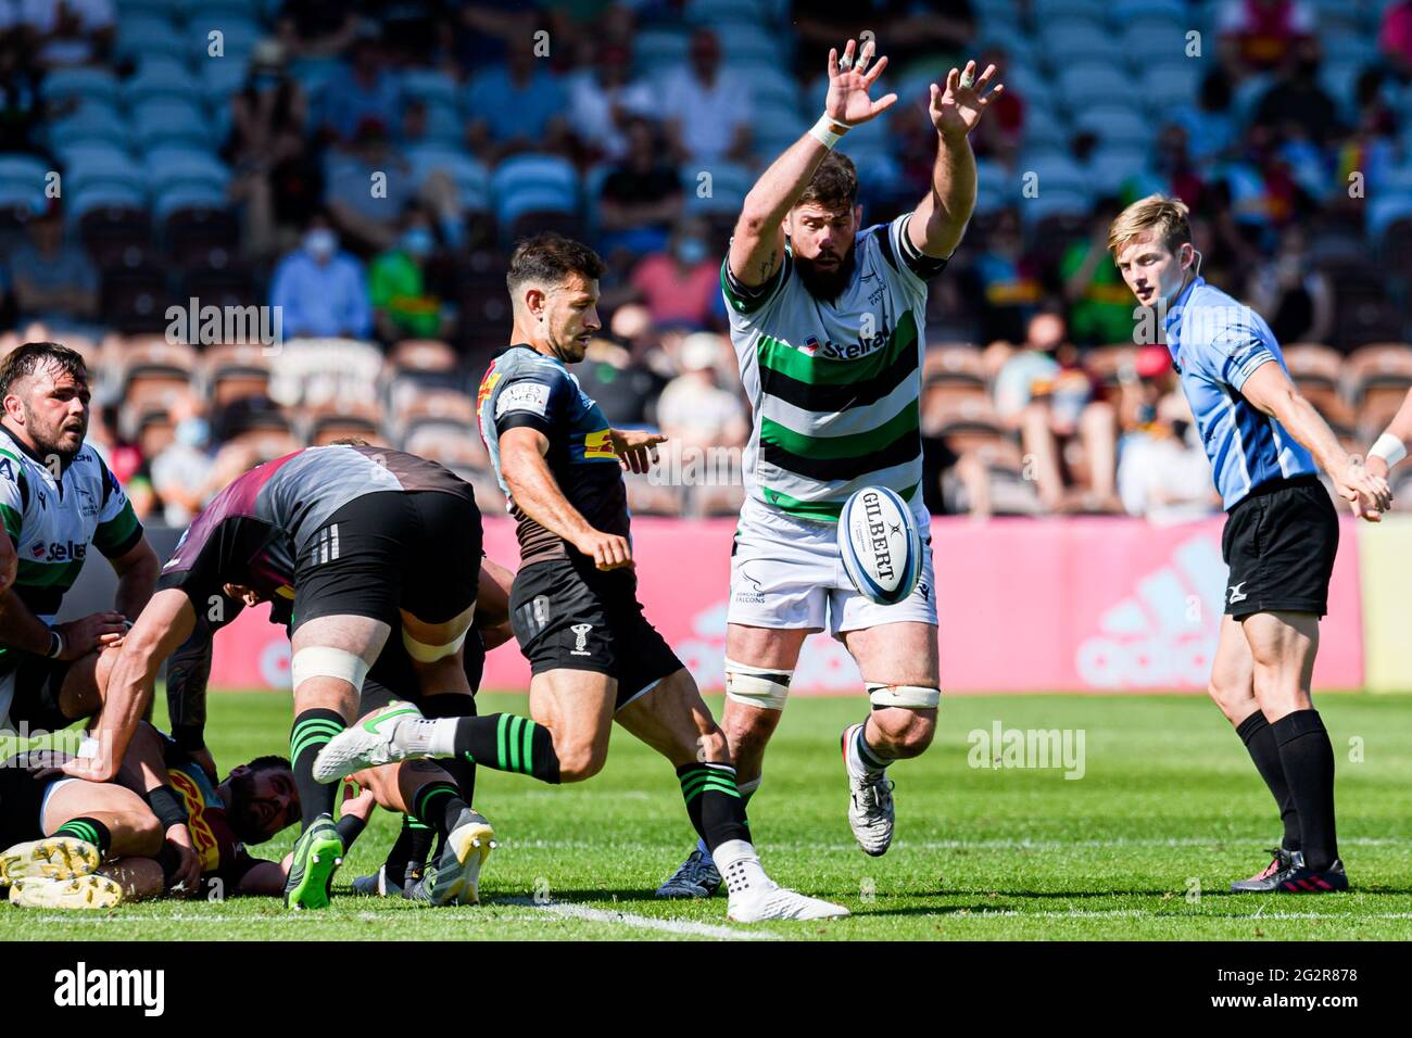
[[[642,616],[633,571],[600,572],[586,555],[521,568],[510,589],[510,626],[531,674],[568,669],[616,678],[614,709],[682,669],[666,638]]]

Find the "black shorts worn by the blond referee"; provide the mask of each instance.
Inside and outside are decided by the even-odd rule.
[[[1337,554],[1339,514],[1316,476],[1262,483],[1226,517],[1226,612],[1324,616]]]

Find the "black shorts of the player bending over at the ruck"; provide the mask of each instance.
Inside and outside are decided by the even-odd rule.
[[[394,630],[400,610],[445,623],[480,589],[480,508],[435,490],[380,490],[329,515],[294,568],[292,634],[321,616],[366,616]]]

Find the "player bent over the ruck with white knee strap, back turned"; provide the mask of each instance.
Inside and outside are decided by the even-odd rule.
[[[124,638],[97,726],[103,754],[68,774],[104,781],[152,699],[157,671],[229,593],[291,602],[295,720],[289,758],[302,832],[285,885],[291,908],[328,904],[343,845],[318,750],[359,715],[359,693],[388,634],[400,633],[424,695],[469,699],[462,645],[480,573],[470,484],[414,455],[322,446],[261,465],[217,494],[162,568]],[[479,823],[477,823],[479,825]],[[469,842],[465,846],[470,847]]]

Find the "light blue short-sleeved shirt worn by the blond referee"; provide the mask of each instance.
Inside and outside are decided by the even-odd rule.
[[[1278,421],[1240,394],[1267,362],[1289,374],[1260,314],[1197,277],[1168,309],[1163,329],[1227,511],[1261,483],[1319,470]]]

